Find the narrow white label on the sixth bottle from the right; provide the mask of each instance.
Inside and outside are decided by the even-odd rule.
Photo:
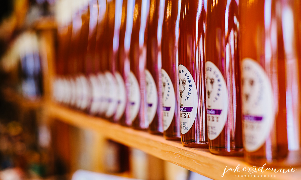
[[[130,81],[130,120],[133,122],[140,108],[140,87],[134,73],[131,71],[129,75]]]

